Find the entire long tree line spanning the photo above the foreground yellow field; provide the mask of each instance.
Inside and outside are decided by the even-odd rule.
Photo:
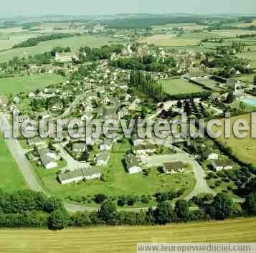
[[[139,212],[118,211],[113,201],[106,199],[98,211],[68,214],[62,201],[42,193],[23,190],[9,194],[0,191],[0,226],[11,228],[48,227],[65,229],[69,226],[84,227],[98,224],[108,225],[153,225],[171,222],[206,221],[227,219],[256,214],[256,178],[245,186],[244,204],[236,204],[227,194],[217,196],[205,194],[190,201],[169,200],[169,195],[158,199],[155,209]],[[172,198],[172,197],[171,197]],[[191,209],[191,206],[197,209]]]

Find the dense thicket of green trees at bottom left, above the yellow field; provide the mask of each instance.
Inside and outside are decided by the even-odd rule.
[[[24,190],[8,194],[0,190],[1,227],[49,227],[63,229],[69,216],[62,201]]]

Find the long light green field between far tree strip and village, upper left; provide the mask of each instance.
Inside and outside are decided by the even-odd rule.
[[[29,55],[34,56],[35,54],[42,54],[44,52],[51,51],[53,47],[70,47],[72,51],[75,52],[80,47],[101,47],[105,44],[109,44],[109,42],[110,37],[89,35],[65,39],[54,39],[47,42],[41,42],[34,47],[16,48],[0,52],[0,62],[7,62],[16,56],[22,58],[29,57]]]

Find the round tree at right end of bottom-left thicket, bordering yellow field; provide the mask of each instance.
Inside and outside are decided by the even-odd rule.
[[[57,209],[49,216],[49,229],[65,229],[70,222],[70,217],[65,209]]]

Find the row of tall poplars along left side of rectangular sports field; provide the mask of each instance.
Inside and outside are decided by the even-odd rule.
[[[129,83],[131,87],[136,87],[141,92],[146,93],[158,101],[162,101],[166,97],[166,92],[161,83],[153,80],[153,77],[149,74],[133,70],[131,71]]]

